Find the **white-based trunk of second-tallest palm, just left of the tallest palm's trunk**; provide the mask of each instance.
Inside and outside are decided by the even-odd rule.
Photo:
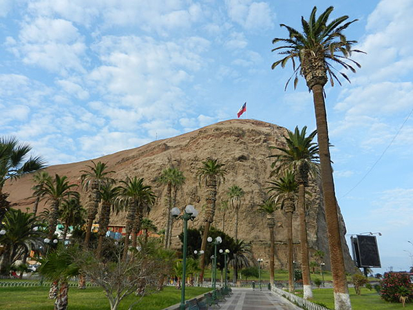
[[[301,271],[303,274],[304,299],[313,298],[310,280],[310,263],[308,262],[308,237],[306,225],[306,204],[304,184],[298,185],[298,216],[299,216],[299,240],[301,248]]]

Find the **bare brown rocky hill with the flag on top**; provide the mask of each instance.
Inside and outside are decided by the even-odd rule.
[[[114,178],[120,180],[126,176],[138,176],[145,178],[146,183],[153,187],[157,195],[156,203],[152,208],[149,218],[159,229],[165,228],[165,196],[166,188],[156,183],[162,169],[174,165],[178,167],[187,178],[184,186],[178,192],[178,206],[192,204],[200,215],[189,227],[200,227],[203,223],[203,206],[205,204],[206,188],[199,183],[196,177],[197,169],[201,162],[208,157],[218,158],[224,163],[228,174],[225,182],[218,189],[217,205],[226,200],[226,189],[232,185],[238,185],[244,189],[245,196],[240,207],[240,223],[238,225],[238,238],[251,241],[255,258],[264,258],[268,263],[269,236],[266,226],[266,217],[257,212],[257,204],[262,203],[266,197],[267,181],[271,172],[271,159],[273,154],[271,146],[282,146],[286,129],[253,120],[230,120],[216,123],[165,140],[153,141],[136,149],[129,149],[116,154],[96,158],[95,161],[106,162],[109,169],[114,170]],[[47,168],[54,175],[66,175],[71,182],[80,184],[80,171],[91,165],[91,161],[72,163],[67,165],[55,165]],[[25,209],[32,207],[34,198],[32,195],[31,176],[25,176],[13,183],[8,183],[4,192],[10,193],[9,200],[14,207]],[[328,240],[326,234],[326,220],[324,206],[320,198],[320,190],[317,184],[309,188],[313,195],[308,201],[307,223],[309,246],[314,251],[321,249],[328,255]],[[339,214],[342,219],[341,214]],[[275,241],[277,268],[286,268],[286,225],[284,225],[284,212],[275,212]],[[112,224],[124,224],[125,214],[119,214],[112,218]],[[173,225],[173,236],[180,234],[182,221]],[[342,233],[346,233],[343,220]],[[299,227],[298,216],[293,218],[295,260],[299,261]],[[222,212],[218,209],[215,213],[213,226],[222,229]],[[226,234],[234,235],[235,213],[233,210],[226,212],[224,229]],[[344,238],[343,238],[344,240]],[[173,238],[173,245],[178,246],[178,238]],[[313,251],[310,251],[313,253]],[[346,269],[353,269],[348,247],[344,240],[344,253]],[[329,268],[328,256],[325,259],[326,269]]]

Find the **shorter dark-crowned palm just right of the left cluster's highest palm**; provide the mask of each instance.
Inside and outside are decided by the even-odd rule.
[[[96,250],[98,258],[102,256],[103,239],[105,238],[107,227],[109,226],[111,210],[118,211],[116,200],[120,195],[120,187],[115,186],[112,181],[103,182],[99,189],[102,206],[99,214],[99,240]]]

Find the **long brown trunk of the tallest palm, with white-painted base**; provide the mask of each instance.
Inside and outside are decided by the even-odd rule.
[[[328,148],[328,126],[326,105],[324,103],[324,90],[321,85],[314,85],[313,100],[315,118],[317,123],[317,140],[319,144],[321,185],[323,187],[324,206],[326,209],[326,224],[328,233],[328,247],[330,249],[330,263],[332,284],[334,287],[335,309],[351,310],[350,296],[346,282],[346,269],[344,267],[343,250],[339,218],[337,214],[337,201],[335,198],[334,180],[330,150]]]

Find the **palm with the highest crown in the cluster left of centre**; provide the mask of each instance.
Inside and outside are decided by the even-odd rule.
[[[109,178],[109,174],[114,173],[114,171],[107,171],[107,163],[102,163],[98,161],[95,163],[92,161],[92,166],[86,165],[88,170],[81,170],[83,174],[81,175],[81,183],[85,191],[89,191],[89,202],[87,207],[87,228],[85,235],[84,247],[89,247],[90,234],[92,233],[92,226],[96,215],[98,214],[98,207],[100,203],[100,192],[99,189],[102,183],[107,180],[113,180]]]

